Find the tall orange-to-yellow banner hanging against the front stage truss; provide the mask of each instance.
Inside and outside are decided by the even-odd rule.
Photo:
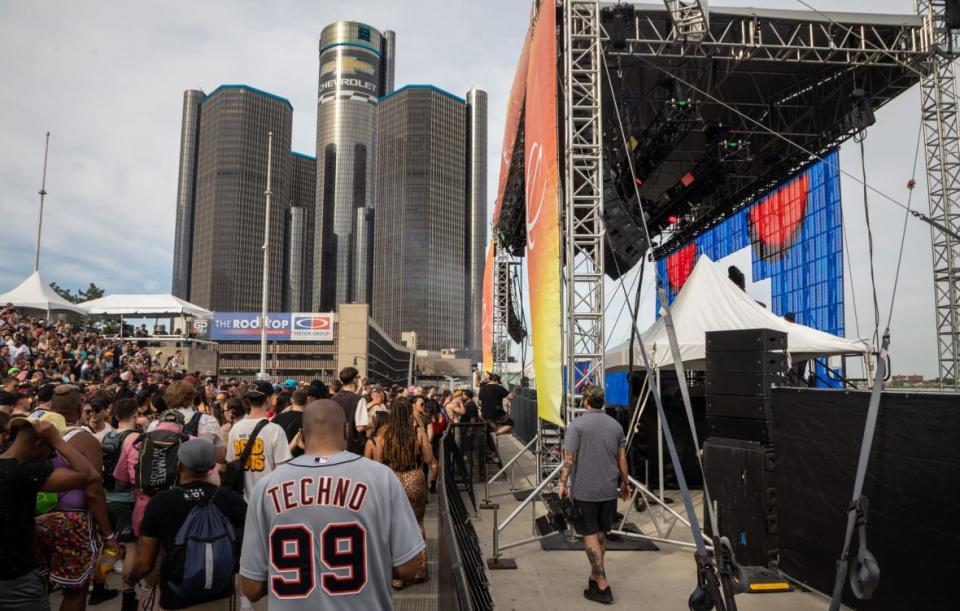
[[[560,299],[560,191],[557,147],[557,12],[540,4],[527,66],[524,144],[527,279],[530,283],[537,411],[563,426],[563,333]]]

